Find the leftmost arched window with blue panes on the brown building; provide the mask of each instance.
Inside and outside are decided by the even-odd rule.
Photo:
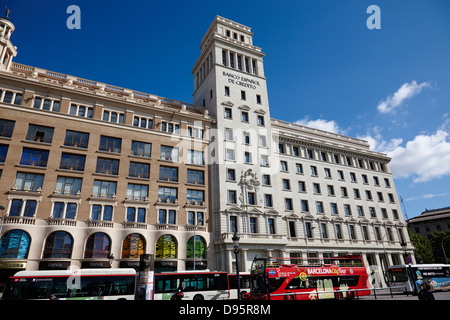
[[[23,230],[11,230],[0,241],[0,258],[26,259],[30,249],[31,238]]]

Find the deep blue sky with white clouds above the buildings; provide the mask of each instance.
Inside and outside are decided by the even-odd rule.
[[[68,6],[81,9],[69,30]],[[370,5],[381,29],[370,30]],[[367,139],[393,158],[408,217],[450,206],[450,1],[1,1],[14,61],[192,102],[216,15],[266,53],[273,118]]]

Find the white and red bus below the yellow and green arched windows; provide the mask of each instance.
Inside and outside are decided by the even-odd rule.
[[[177,291],[183,300],[229,299],[226,272],[182,271],[155,274],[153,300],[170,300]]]

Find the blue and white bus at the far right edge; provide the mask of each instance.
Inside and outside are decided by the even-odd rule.
[[[432,290],[450,290],[450,264],[395,265],[388,268],[389,286],[403,292],[419,292],[424,282]]]

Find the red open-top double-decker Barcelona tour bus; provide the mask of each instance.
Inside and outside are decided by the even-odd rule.
[[[290,259],[293,263],[284,263]],[[255,258],[247,300],[353,299],[370,295],[360,256]]]

